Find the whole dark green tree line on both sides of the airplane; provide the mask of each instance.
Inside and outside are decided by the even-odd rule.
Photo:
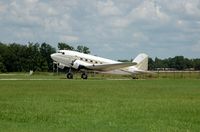
[[[58,43],[57,48],[90,53],[89,48],[83,45],[74,48],[67,43]],[[56,48],[45,42],[29,42],[26,45],[0,42],[0,72],[52,71],[53,61],[50,55],[55,52]],[[158,69],[200,70],[200,59],[188,59],[184,56],[167,59],[149,58],[149,70]]]

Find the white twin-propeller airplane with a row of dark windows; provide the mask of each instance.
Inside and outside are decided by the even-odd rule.
[[[73,79],[71,68],[82,71],[81,78],[87,79],[87,71],[111,73],[111,74],[135,74],[148,73],[148,56],[139,54],[132,62],[119,62],[98,56],[80,53],[71,50],[59,50],[51,54],[51,58],[58,64],[59,68],[68,67],[66,74],[68,79]]]

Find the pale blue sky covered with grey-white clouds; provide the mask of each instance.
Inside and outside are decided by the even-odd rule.
[[[200,58],[200,0],[1,0],[0,42],[65,42],[110,59]]]

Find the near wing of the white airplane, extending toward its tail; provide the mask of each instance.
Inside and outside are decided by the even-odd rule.
[[[97,64],[97,65],[89,65],[85,66],[85,68],[90,70],[97,70],[97,71],[110,71],[115,69],[120,69],[128,66],[134,66],[137,63],[129,62],[129,63],[113,63],[113,64]]]

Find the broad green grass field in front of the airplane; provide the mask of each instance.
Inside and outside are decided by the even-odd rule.
[[[200,130],[200,80],[1,80],[0,131]]]

